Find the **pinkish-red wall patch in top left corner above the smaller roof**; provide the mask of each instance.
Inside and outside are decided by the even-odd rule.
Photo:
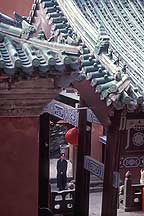
[[[20,15],[28,16],[32,4],[33,0],[1,0],[0,12],[11,17],[14,11]]]

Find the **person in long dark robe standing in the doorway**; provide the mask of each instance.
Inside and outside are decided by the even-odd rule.
[[[62,153],[60,159],[57,161],[57,187],[59,190],[64,190],[67,183],[67,161],[65,154]]]

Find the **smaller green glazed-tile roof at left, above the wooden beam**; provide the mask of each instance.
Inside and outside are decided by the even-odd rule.
[[[60,75],[79,68],[79,50],[74,46],[23,38],[23,29],[0,22],[0,71],[1,74],[26,76],[39,74]],[[7,24],[6,24],[7,23]],[[11,20],[10,20],[11,23]]]

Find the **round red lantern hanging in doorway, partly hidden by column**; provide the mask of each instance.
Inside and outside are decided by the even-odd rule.
[[[78,129],[69,129],[65,134],[65,139],[67,143],[70,143],[72,145],[78,145]]]

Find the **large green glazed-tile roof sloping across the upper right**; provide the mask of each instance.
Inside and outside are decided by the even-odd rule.
[[[39,0],[61,43],[81,50],[81,76],[107,106],[133,111],[143,103],[143,14],[140,1]]]

